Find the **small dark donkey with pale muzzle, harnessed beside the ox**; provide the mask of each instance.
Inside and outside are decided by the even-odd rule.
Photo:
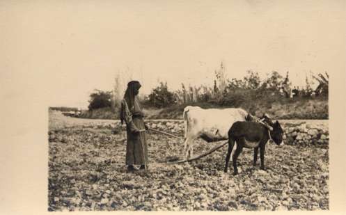
[[[258,148],[260,148],[260,169],[265,169],[265,145],[269,139],[272,139],[276,145],[281,145],[281,143],[283,143],[283,129],[278,121],[273,123],[269,118],[264,118],[264,120],[267,125],[272,127],[272,131],[265,125],[252,121],[235,122],[232,127],[230,127],[228,131],[228,152],[226,156],[225,173],[227,173],[230,153],[233,150],[235,142],[237,143],[237,148],[233,154],[234,175],[238,173],[237,158],[243,148],[254,149],[253,166],[256,165]]]

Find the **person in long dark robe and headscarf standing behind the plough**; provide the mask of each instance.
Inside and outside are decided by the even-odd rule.
[[[126,160],[129,173],[136,170],[134,165],[141,165],[141,170],[148,168],[148,145],[146,141],[146,129],[148,127],[143,121],[143,111],[139,104],[137,95],[141,84],[139,81],[129,81],[124,99],[121,102],[120,120],[126,123],[127,146]]]

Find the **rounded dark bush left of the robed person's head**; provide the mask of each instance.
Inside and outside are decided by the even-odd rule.
[[[91,99],[89,100],[88,106],[89,111],[104,107],[111,107],[112,96],[111,91],[94,90],[94,92],[90,95]]]

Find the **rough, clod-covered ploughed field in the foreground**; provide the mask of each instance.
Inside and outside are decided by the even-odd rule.
[[[326,148],[269,145],[265,171],[244,149],[233,176],[231,165],[223,173],[227,145],[191,164],[166,165],[159,162],[180,156],[182,143],[148,133],[150,170],[129,174],[123,134],[84,127],[98,122],[49,113],[49,211],[329,209]],[[217,144],[196,141],[194,154]]]

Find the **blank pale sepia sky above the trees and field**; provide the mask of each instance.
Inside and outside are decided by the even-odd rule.
[[[88,106],[117,72],[141,81],[212,85],[272,70],[293,85],[344,72],[345,1],[0,1],[3,96],[30,90],[49,106]],[[15,85],[12,86],[12,83]],[[22,86],[18,88],[18,86]],[[36,98],[37,97],[37,98]]]

